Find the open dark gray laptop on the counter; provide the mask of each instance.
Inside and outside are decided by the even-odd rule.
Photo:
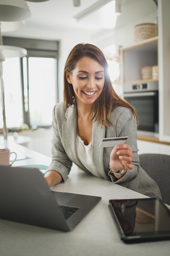
[[[101,199],[51,191],[38,169],[0,166],[1,219],[71,231]]]

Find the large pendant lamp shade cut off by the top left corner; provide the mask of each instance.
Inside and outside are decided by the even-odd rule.
[[[0,0],[0,21],[19,21],[31,17],[24,0]]]

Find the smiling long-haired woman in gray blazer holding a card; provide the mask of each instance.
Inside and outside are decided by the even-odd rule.
[[[161,193],[139,166],[137,114],[114,91],[102,51],[78,44],[64,68],[63,103],[53,110],[52,162],[49,186],[64,182],[75,163],[83,171],[148,196]],[[126,144],[100,148],[104,137],[128,136]]]

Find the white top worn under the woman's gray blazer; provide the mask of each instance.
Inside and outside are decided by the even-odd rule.
[[[84,141],[77,135],[77,155],[79,160],[88,169],[88,171],[99,177],[91,157],[91,144],[92,141],[88,145],[84,145]]]

